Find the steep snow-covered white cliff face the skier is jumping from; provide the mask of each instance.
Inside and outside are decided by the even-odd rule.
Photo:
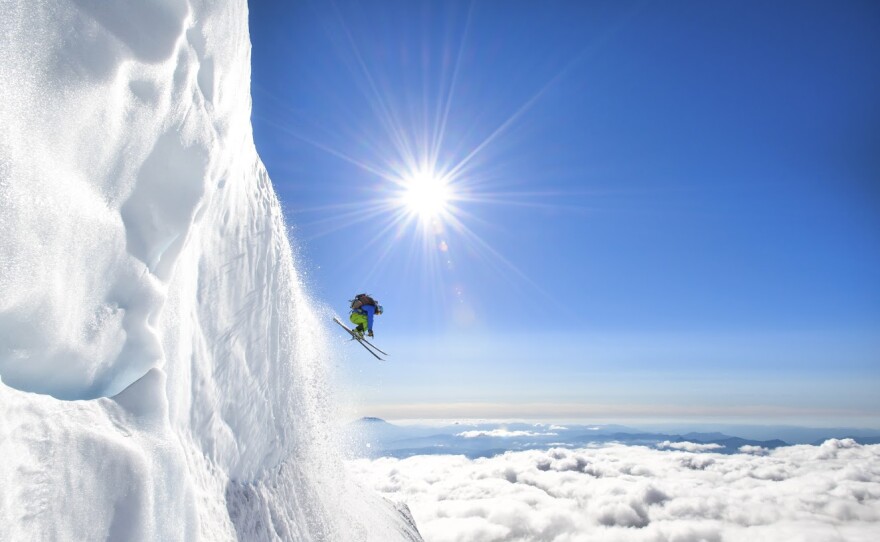
[[[246,3],[0,13],[0,539],[419,540],[334,451]]]

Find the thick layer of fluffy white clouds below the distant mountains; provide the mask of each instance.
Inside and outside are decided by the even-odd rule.
[[[880,540],[880,445],[741,452],[615,444],[349,467],[406,502],[427,542]]]

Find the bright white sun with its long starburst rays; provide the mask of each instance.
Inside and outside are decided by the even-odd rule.
[[[394,263],[395,273],[401,276],[420,276],[419,288],[431,295],[444,297],[452,290],[456,279],[452,262],[467,258],[483,266],[489,273],[503,277],[517,288],[538,292],[542,299],[550,299],[541,286],[490,242],[479,231],[487,233],[498,224],[492,223],[484,206],[505,206],[521,209],[552,210],[555,212],[590,212],[593,209],[573,201],[573,193],[559,190],[498,190],[516,186],[503,161],[489,162],[487,150],[497,145],[511,129],[535,110],[537,104],[570,73],[571,69],[595,50],[596,43],[582,49],[555,73],[533,87],[525,100],[516,102],[512,111],[492,125],[467,122],[455,116],[461,105],[466,53],[471,41],[476,2],[467,5],[466,16],[456,16],[463,26],[456,37],[447,37],[449,54],[441,62],[441,72],[430,73],[433,66],[423,59],[422,73],[414,74],[416,85],[421,84],[421,96],[400,93],[400,89],[386,80],[378,65],[371,64],[368,43],[358,41],[359,34],[345,19],[342,10],[331,3],[335,13],[331,25],[335,27],[335,45],[353,79],[354,87],[365,100],[371,121],[340,122],[334,132],[327,130],[322,139],[336,141],[351,138],[351,146],[328,144],[303,137],[268,119],[261,119],[329,155],[351,164],[363,172],[368,184],[357,191],[359,199],[347,205],[320,206],[298,212],[326,213],[327,216],[305,222],[312,237],[321,237],[348,229],[368,230],[369,237],[349,251],[342,260],[354,265],[361,280],[374,278],[388,271]],[[423,36],[424,38],[424,36]],[[424,45],[424,42],[423,42]],[[418,48],[416,48],[418,49]],[[426,49],[422,49],[424,52]],[[451,64],[446,59],[451,60]],[[374,71],[375,70],[375,71]],[[432,94],[432,82],[436,94]],[[406,87],[404,87],[406,88]],[[432,96],[435,96],[432,98]],[[453,129],[463,122],[464,134],[452,138]],[[322,127],[319,127],[322,128]],[[323,134],[323,132],[321,132]],[[457,145],[453,145],[456,143]],[[523,181],[524,182],[524,181]],[[486,229],[489,228],[489,229]],[[392,259],[396,256],[398,259]],[[470,265],[464,263],[465,266]],[[429,285],[429,286],[426,286]],[[443,301],[443,299],[441,299]],[[448,299],[447,299],[448,301]],[[546,303],[544,303],[546,305]],[[566,314],[570,309],[562,307]]]

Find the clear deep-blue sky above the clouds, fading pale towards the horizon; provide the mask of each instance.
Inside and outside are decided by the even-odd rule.
[[[250,10],[307,282],[386,308],[364,414],[880,425],[880,4]]]

